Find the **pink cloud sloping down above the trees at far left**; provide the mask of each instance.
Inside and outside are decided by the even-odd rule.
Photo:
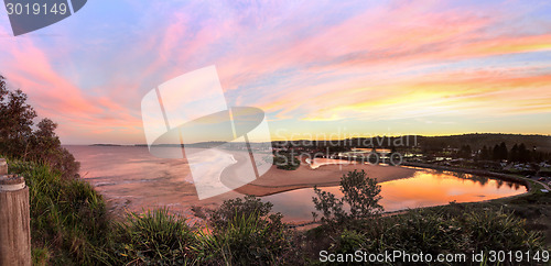
[[[91,129],[106,129],[106,123],[136,126],[141,122],[107,97],[87,96],[53,68],[52,56],[39,48],[32,38],[0,38],[0,46],[10,51],[1,69],[10,87],[21,88],[29,96],[39,118],[57,122],[62,138],[67,136],[66,132],[75,132],[74,129],[82,134]]]

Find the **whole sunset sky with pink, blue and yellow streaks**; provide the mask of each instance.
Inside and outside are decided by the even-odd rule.
[[[210,65],[274,140],[551,134],[551,2],[445,2],[90,0],[17,37],[2,9],[0,74],[64,144],[145,143],[142,97]]]

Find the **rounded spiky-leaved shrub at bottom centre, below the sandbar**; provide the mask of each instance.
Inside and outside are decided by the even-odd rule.
[[[285,263],[292,250],[292,232],[280,213],[269,214],[271,203],[251,196],[225,201],[212,211],[210,233],[202,234],[197,248],[202,263],[272,265]]]

